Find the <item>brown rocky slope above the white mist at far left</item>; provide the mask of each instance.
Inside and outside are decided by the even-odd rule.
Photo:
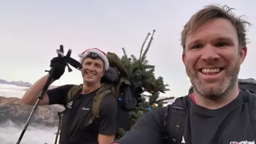
[[[22,103],[19,98],[5,98],[0,96],[0,123],[10,119],[17,124],[26,123],[33,106]],[[63,107],[58,105],[39,106],[31,117],[30,124],[41,124],[45,126],[58,126],[58,111]]]

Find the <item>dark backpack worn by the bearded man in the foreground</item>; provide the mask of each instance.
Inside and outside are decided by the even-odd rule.
[[[251,116],[251,122],[256,133],[256,105],[253,101],[249,101],[249,97],[256,98],[256,80],[253,78],[238,79],[239,89],[244,90],[247,95],[243,98],[243,103],[248,103],[249,111]],[[193,93],[193,87],[191,86],[188,94]],[[189,95],[175,99],[172,105],[167,106],[164,109],[164,130],[162,130],[163,142],[164,143],[185,143],[183,138],[183,132],[185,129],[185,119],[187,110],[190,105],[188,99]],[[170,130],[170,132],[169,132]]]

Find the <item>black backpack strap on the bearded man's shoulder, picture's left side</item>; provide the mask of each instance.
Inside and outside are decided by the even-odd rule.
[[[185,119],[187,114],[188,96],[175,99],[165,114],[165,139],[166,143],[181,143],[185,129]],[[169,131],[170,130],[170,131]]]

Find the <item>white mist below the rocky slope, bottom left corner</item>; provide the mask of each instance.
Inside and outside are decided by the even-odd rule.
[[[1,144],[16,143],[23,130],[22,125],[17,125],[11,121],[6,121],[0,125],[0,141]],[[58,127],[45,127],[43,125],[28,126],[27,131],[23,135],[20,144],[52,144],[55,141],[55,132]]]

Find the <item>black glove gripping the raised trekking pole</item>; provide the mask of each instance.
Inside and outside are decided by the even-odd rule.
[[[50,76],[57,80],[59,79],[64,73],[65,68],[67,66],[66,57],[55,57],[51,60],[51,70],[49,72]]]

